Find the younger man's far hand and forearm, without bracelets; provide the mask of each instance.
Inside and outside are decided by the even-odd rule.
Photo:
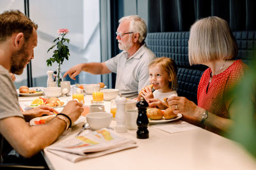
[[[42,117],[42,115],[54,115],[54,114],[58,114],[58,111],[45,105],[38,106],[31,110],[23,111],[23,115],[27,122],[35,117]]]

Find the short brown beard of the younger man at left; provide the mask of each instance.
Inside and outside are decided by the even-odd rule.
[[[18,51],[12,54],[11,57],[11,73],[22,74],[26,63],[28,62],[28,52],[25,51],[25,45]]]

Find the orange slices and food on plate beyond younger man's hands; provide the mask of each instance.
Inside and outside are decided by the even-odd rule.
[[[57,107],[57,106],[63,106],[64,102],[60,101],[60,99],[56,97],[46,98],[46,97],[39,97],[33,100],[30,104],[32,107],[40,106],[42,104],[45,104],[49,107]]]

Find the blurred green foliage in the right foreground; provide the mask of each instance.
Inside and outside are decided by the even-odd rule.
[[[256,157],[255,89],[256,60],[253,60],[244,78],[232,90],[232,96],[235,97],[232,103],[235,118],[227,137],[241,143],[254,157]]]

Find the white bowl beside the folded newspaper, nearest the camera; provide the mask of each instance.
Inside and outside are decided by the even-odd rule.
[[[109,127],[112,121],[112,114],[108,112],[93,112],[86,115],[86,120],[92,130]]]

